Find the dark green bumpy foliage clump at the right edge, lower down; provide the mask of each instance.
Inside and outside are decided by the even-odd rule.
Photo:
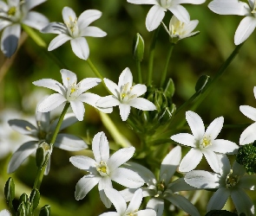
[[[247,174],[256,173],[256,142],[240,146],[236,161],[246,168]]]

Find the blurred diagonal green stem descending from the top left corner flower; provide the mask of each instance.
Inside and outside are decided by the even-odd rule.
[[[62,68],[66,68],[66,69],[69,69],[69,67],[67,67],[63,62],[62,60],[60,60],[56,54],[54,53],[50,53],[48,50],[47,50],[47,44],[45,43],[45,41],[43,41],[43,39],[36,33],[36,31],[34,29],[31,29],[29,26],[27,25],[24,25],[22,24],[23,26],[23,30],[30,36],[30,38],[33,39],[33,41],[36,42],[36,45],[40,48],[43,48],[43,52],[45,54],[47,54],[49,56],[49,59],[53,60],[56,65],[58,67],[60,67],[60,69]]]

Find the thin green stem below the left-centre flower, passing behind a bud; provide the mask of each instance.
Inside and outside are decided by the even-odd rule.
[[[67,104],[64,106],[64,109],[63,109],[63,111],[62,111],[62,114],[61,114],[61,116],[60,116],[60,118],[59,118],[59,121],[58,121],[58,123],[57,123],[57,125],[56,125],[56,130],[55,130],[53,136],[51,137],[51,140],[50,140],[50,143],[49,143],[50,149],[53,148],[53,145],[54,145],[54,143],[55,143],[55,141],[56,141],[57,134],[58,134],[58,132],[59,132],[59,130],[60,130],[60,128],[61,128],[61,125],[62,125],[62,121],[63,121],[63,119],[64,119],[64,116],[65,116],[66,112],[67,112],[68,109],[69,109],[69,105],[70,105],[70,104],[67,103]],[[43,181],[43,174],[44,174],[45,168],[47,167],[47,163],[48,163],[48,160],[43,164],[43,166],[42,166],[41,168],[38,168],[38,169],[37,169],[36,179],[35,179],[35,182],[34,182],[34,187],[33,187],[33,189],[36,188],[36,189],[39,190],[39,188],[40,188],[40,186],[41,186],[41,183],[42,183],[42,181]]]

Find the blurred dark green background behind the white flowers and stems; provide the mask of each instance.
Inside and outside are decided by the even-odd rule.
[[[194,86],[200,75],[207,74],[213,77],[214,73],[218,71],[221,64],[235,48],[233,35],[242,17],[213,14],[212,11],[208,10],[207,3],[184,5],[189,11],[191,19],[200,21],[195,29],[200,30],[200,35],[181,41],[174,47],[167,77],[174,79],[175,94],[173,102],[177,107],[194,94]],[[124,0],[49,0],[37,6],[34,10],[48,16],[50,22],[62,22],[62,8],[64,6],[69,6],[75,10],[76,16],[89,9],[102,11],[102,17],[93,22],[92,25],[106,31],[108,35],[103,38],[87,38],[90,49],[89,58],[94,62],[103,77],[112,79],[115,82],[117,82],[121,71],[125,67],[131,69],[135,82],[137,82],[135,60],[132,57],[132,41],[135,34],[139,32],[145,41],[145,56],[141,67],[143,80],[146,82],[148,50],[153,35],[145,27],[145,19],[151,7],[150,5],[135,5]],[[167,12],[164,18],[166,25],[168,25],[170,17],[171,14]],[[47,44],[56,36],[38,34]],[[196,110],[205,124],[210,124],[214,118],[220,116],[225,118],[225,124],[252,123],[250,119],[240,112],[239,107],[240,105],[256,107],[256,100],[253,97],[253,86],[256,83],[255,34],[254,32],[249,37],[240,49],[240,54],[233,60],[226,73],[220,78],[217,85],[213,87],[213,91],[208,94],[207,98]],[[56,66],[53,60],[49,59],[43,49],[38,48],[34,41],[29,37],[26,38],[25,34],[23,36],[25,41],[16,52],[16,55],[10,60],[7,60],[0,53],[0,112],[11,109],[22,112],[25,116],[33,116],[38,98],[44,94],[52,93],[52,91],[33,86],[32,81],[44,78],[61,81],[61,74],[59,73],[60,68]],[[156,86],[160,83],[161,71],[166,61],[168,43],[167,33],[161,28],[154,60],[153,82]],[[95,77],[87,62],[78,59],[73,54],[69,42],[52,52],[62,59],[71,71],[77,74],[78,80],[86,77]],[[40,96],[37,94],[33,96],[38,91]],[[96,86],[91,92],[101,96],[108,94],[102,85]],[[89,105],[85,106],[84,121],[70,126],[66,131],[83,137],[90,142],[96,132],[103,130],[107,134],[108,141],[112,142],[112,137],[102,124],[98,113]],[[187,110],[189,110],[189,107]],[[133,130],[128,129],[125,123],[121,122],[117,108],[114,109],[114,112],[109,117],[112,118],[121,133],[128,137],[131,143],[138,144],[139,137],[135,135]],[[10,115],[10,118],[14,117]],[[2,124],[6,124],[6,119],[4,120],[2,118]],[[238,129],[226,128],[221,131],[219,137],[238,143],[240,133],[244,129],[245,127],[239,127]],[[0,128],[0,130],[3,129]],[[12,143],[8,144],[11,145]],[[87,154],[87,152],[70,153],[61,149],[54,150],[51,170],[49,175],[43,179],[41,189],[43,201],[40,204],[41,206],[45,204],[51,205],[52,215],[74,215],[74,213],[77,215],[98,215],[108,211],[99,199],[97,187],[85,199],[75,200],[75,184],[84,173],[73,167],[69,162],[69,156],[82,154]],[[36,175],[34,157],[30,157],[29,162],[18,168],[14,175],[7,175],[6,167],[9,159],[10,155],[4,156],[0,161],[0,210],[6,207],[3,198],[3,185],[9,176],[15,178],[18,185],[16,194],[20,195],[23,190],[29,193]],[[209,195],[211,193],[207,192],[202,198]],[[250,195],[256,201],[255,194],[251,193]],[[230,205],[232,209],[232,204]],[[197,206],[200,209],[200,213],[206,213],[205,200],[200,200]]]

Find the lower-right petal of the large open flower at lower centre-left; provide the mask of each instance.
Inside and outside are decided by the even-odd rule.
[[[128,168],[115,168],[110,177],[124,187],[137,188],[144,184],[141,176]]]

